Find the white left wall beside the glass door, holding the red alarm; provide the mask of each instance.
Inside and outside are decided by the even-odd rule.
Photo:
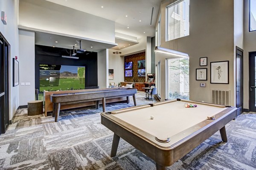
[[[19,107],[19,86],[12,86],[12,58],[18,56],[18,11],[19,0],[0,0],[0,11],[6,12],[7,25],[3,25],[0,21],[0,32],[10,43],[9,51],[9,118],[12,119],[16,109]]]

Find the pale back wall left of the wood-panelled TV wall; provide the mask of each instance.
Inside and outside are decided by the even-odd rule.
[[[113,54],[116,50],[108,50],[108,68],[114,69],[114,79],[109,80],[109,82],[114,82],[118,84],[119,82],[125,81],[124,78],[124,63],[125,58],[121,57],[120,54]]]

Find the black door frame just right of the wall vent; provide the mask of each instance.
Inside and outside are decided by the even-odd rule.
[[[236,46],[236,56],[239,54],[239,51],[242,53],[242,55],[241,55],[241,110],[243,112],[243,109],[244,109],[244,92],[243,92],[243,88],[244,88],[244,81],[243,81],[243,79],[244,79],[244,74],[243,74],[244,50],[239,48],[238,46]],[[237,66],[237,62],[236,62],[236,66]],[[236,67],[236,69],[237,69],[237,67]],[[236,80],[237,80],[237,74],[236,74]],[[236,96],[236,98],[237,98],[237,96]],[[240,114],[238,114],[238,112],[237,112],[236,116],[238,116],[238,115],[240,115]]]

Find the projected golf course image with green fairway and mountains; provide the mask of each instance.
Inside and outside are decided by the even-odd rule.
[[[40,66],[40,92],[84,89],[84,66],[60,66],[39,64]]]

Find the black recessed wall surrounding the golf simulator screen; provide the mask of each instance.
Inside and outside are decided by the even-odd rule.
[[[39,64],[85,66],[85,87],[98,86],[97,52],[77,54],[79,59],[63,58],[69,49],[35,45],[35,89],[39,89]]]

